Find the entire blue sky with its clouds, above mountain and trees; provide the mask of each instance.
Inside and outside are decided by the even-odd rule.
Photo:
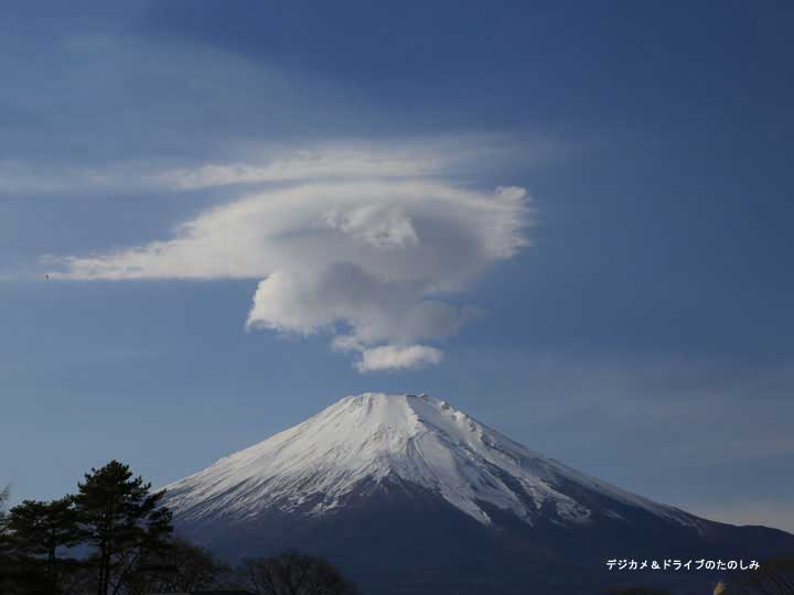
[[[423,391],[794,531],[792,17],[9,4],[0,484],[111,457],[164,484]]]

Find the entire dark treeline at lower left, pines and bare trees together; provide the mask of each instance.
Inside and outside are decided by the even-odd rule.
[[[9,491],[0,491],[0,593],[357,593],[329,562],[300,552],[232,567],[174,537],[163,496],[117,461],[93,468],[76,494],[57,500],[25,500],[6,510]]]

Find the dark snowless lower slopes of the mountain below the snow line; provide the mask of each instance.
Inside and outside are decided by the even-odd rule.
[[[567,486],[570,488],[570,486]],[[794,536],[691,517],[683,526],[614,500],[582,495],[594,512],[587,524],[561,523],[539,510],[534,524],[481,502],[483,524],[431,491],[389,477],[364,484],[337,511],[268,510],[250,522],[182,522],[185,537],[237,560],[299,549],[328,558],[368,595],[573,595],[647,585],[675,595],[711,592],[725,573],[609,571],[610,559],[760,560],[794,551]],[[609,508],[604,508],[609,506]]]

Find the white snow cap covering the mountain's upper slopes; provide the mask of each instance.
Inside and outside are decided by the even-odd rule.
[[[698,526],[682,510],[580,474],[426,394],[346,397],[167,486],[168,504],[183,522],[246,520],[269,509],[316,517],[386,478],[431,490],[483,524],[492,522],[485,509],[496,507],[528,524],[543,515],[587,526],[591,502],[599,502],[605,517],[620,518],[627,506]]]

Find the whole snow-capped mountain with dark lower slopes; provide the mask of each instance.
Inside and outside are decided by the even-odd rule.
[[[794,536],[633,495],[426,394],[346,397],[167,490],[178,532],[222,556],[310,551],[371,594],[706,593],[712,574],[605,562],[794,551]]]

